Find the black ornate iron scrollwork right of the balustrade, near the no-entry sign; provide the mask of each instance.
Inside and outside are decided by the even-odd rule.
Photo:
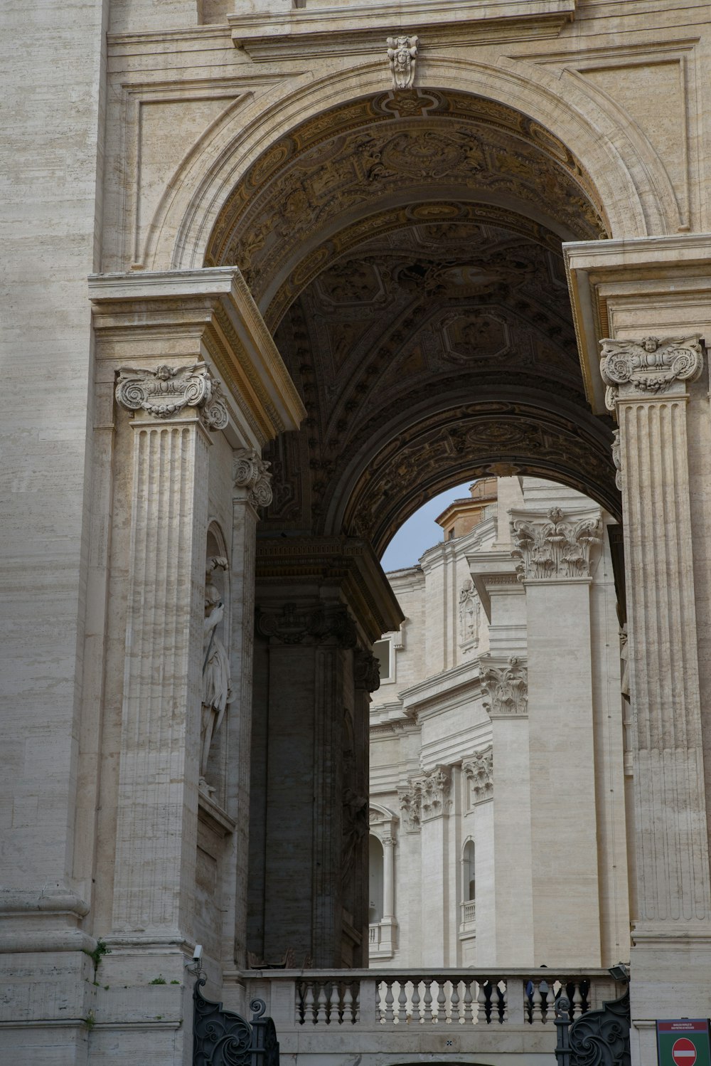
[[[569,1023],[566,996],[556,1002],[558,1066],[630,1066],[629,989],[619,999],[606,1001]]]

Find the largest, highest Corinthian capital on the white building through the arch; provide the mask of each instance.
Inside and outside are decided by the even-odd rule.
[[[511,512],[519,581],[590,578],[593,548],[601,543],[598,510],[566,516],[560,507],[545,514]]]

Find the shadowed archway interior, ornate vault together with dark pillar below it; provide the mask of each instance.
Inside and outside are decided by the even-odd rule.
[[[265,453],[257,547],[248,935],[267,960],[361,962],[367,899],[343,871],[366,861],[370,646],[400,619],[377,558],[396,528],[483,472],[621,513],[562,254],[608,227],[549,130],[442,90],[323,112],[225,201],[205,264],[239,265],[307,410]]]

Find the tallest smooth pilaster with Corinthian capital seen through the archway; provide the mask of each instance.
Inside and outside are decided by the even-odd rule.
[[[590,587],[600,511],[510,515],[526,589],[533,963],[599,966]]]

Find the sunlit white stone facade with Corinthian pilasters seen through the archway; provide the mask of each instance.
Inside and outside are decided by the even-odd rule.
[[[616,523],[541,479],[497,488],[388,575],[406,620],[370,709],[374,967],[629,956]]]

